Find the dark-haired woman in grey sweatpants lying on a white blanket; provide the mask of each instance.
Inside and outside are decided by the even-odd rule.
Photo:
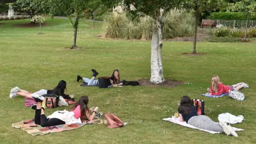
[[[196,107],[193,105],[193,101],[188,96],[183,96],[178,108],[179,117],[181,122],[185,122],[193,125],[199,129],[215,132],[225,132],[227,135],[234,135],[238,137],[237,133],[232,127],[224,122],[215,123],[210,117],[205,115],[197,115]]]

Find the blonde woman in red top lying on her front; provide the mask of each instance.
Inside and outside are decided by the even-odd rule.
[[[228,91],[239,91],[242,88],[249,88],[249,85],[246,83],[237,83],[234,85],[223,85],[220,82],[219,76],[212,76],[212,84],[210,89],[208,88],[207,91],[209,94],[212,95],[221,95],[222,93],[228,93]]]

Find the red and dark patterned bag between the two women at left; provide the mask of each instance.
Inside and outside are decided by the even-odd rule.
[[[59,95],[56,94],[43,94],[45,106],[47,108],[56,108],[59,103]]]

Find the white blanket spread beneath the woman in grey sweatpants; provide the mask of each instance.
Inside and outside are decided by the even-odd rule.
[[[179,124],[179,125],[182,125],[182,126],[186,126],[186,127],[190,127],[192,129],[197,129],[197,130],[200,130],[200,131],[204,131],[204,132],[209,132],[209,133],[220,133],[220,132],[215,132],[215,131],[208,131],[208,130],[204,130],[204,129],[199,129],[193,125],[190,125],[186,122],[181,122],[179,118],[173,118],[173,117],[168,117],[168,118],[163,118],[164,121],[169,121],[169,122],[172,122],[174,124]],[[234,131],[244,131],[243,129],[238,129],[236,127],[232,127]]]

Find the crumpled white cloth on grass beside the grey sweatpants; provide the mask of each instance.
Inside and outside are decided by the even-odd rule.
[[[219,114],[218,119],[219,121],[230,123],[230,124],[242,123],[245,120],[242,115],[234,116],[229,113]]]

